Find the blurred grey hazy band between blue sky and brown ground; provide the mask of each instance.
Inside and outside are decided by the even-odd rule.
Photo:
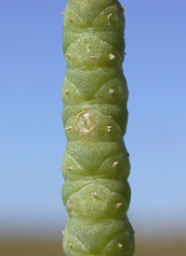
[[[16,216],[16,221],[10,218],[4,218],[4,223],[0,224],[0,240],[61,240],[60,231],[64,230],[67,221],[67,214],[51,214],[45,217],[34,215],[29,218]],[[186,241],[186,225],[181,222],[181,216],[175,217],[176,220],[142,219],[138,215],[128,214],[135,230],[137,240],[153,240],[158,243],[168,242],[179,237]]]

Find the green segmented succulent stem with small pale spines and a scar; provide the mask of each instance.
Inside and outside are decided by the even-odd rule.
[[[117,0],[68,0],[63,17],[63,249],[66,256],[132,256],[124,8]]]

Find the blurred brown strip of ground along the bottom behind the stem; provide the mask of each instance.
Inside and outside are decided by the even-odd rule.
[[[60,238],[42,239],[4,239],[0,241],[1,256],[64,256]],[[158,242],[153,236],[136,241],[135,256],[184,256],[186,255],[186,237],[166,237]]]

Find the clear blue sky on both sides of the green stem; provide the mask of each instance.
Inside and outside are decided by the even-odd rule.
[[[1,0],[0,230],[58,234],[67,1]],[[186,1],[121,1],[134,229],[186,227]],[[40,230],[40,231],[39,231]],[[2,235],[2,234],[1,234]]]

